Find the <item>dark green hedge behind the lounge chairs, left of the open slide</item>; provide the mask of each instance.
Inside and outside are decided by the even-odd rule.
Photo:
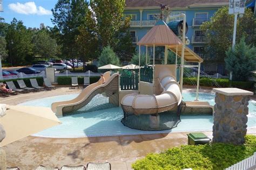
[[[59,76],[57,78],[58,85],[71,85],[71,77],[72,76]],[[77,77],[78,78],[78,84],[83,85],[84,84],[84,77]],[[91,76],[90,77],[90,84],[96,83],[99,80],[99,76]]]

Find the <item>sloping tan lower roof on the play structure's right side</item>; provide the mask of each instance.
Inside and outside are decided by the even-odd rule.
[[[177,50],[178,56],[181,57],[182,46],[170,45],[169,49],[172,50],[174,53],[176,53],[176,50]],[[184,51],[184,60],[186,62],[199,62],[199,63],[204,62],[203,58],[198,56],[196,53],[194,53],[194,51],[192,51],[187,46],[185,47],[185,51]]]

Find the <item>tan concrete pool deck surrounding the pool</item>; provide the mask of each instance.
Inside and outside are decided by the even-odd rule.
[[[39,98],[79,93],[80,90],[59,87],[52,91],[1,96],[0,103],[17,105]],[[211,89],[200,91],[211,92]],[[65,139],[29,136],[12,142],[3,149],[6,152],[7,165],[21,169],[35,169],[39,165],[60,168],[63,165],[77,166],[86,165],[87,162],[105,161],[111,163],[112,169],[132,169],[131,164],[148,153],[186,145],[187,133],[189,132]],[[212,138],[211,131],[203,133]],[[256,135],[256,127],[249,128],[247,134]]]

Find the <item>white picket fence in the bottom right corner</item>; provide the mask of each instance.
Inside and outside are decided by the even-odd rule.
[[[252,157],[246,158],[235,165],[232,165],[225,170],[236,170],[236,169],[246,169],[246,170],[255,170],[256,169],[256,152]]]

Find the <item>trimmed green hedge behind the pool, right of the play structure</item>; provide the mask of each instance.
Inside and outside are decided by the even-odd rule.
[[[197,77],[184,77],[183,84],[197,85]],[[215,87],[237,87],[240,89],[253,89],[253,81],[230,81],[229,79],[215,78],[200,78],[200,86],[215,86]]]

